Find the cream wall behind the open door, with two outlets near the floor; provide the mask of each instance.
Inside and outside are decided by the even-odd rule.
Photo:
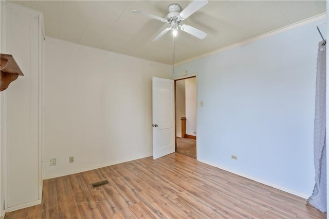
[[[171,69],[47,38],[43,177],[152,156],[152,76]]]

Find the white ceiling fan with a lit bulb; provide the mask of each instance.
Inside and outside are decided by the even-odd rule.
[[[197,10],[199,10],[200,8],[204,7],[207,4],[208,4],[208,0],[194,0],[182,11],[180,11],[181,8],[179,5],[171,4],[168,7],[169,14],[167,15],[167,18],[158,17],[158,16],[155,16],[152,14],[138,11],[138,10],[132,10],[132,12],[142,14],[142,15],[154,18],[154,19],[158,19],[161,22],[169,23],[171,25],[170,27],[166,28],[165,30],[162,30],[162,32],[159,33],[159,35],[157,35],[153,39],[153,41],[159,40],[169,30],[173,30],[173,34],[176,35],[179,27],[182,31],[187,32],[199,39],[203,39],[207,36],[206,32],[196,29],[190,25],[186,25],[186,24],[180,25],[180,22],[184,21],[186,18],[191,16],[194,12],[196,12]]]

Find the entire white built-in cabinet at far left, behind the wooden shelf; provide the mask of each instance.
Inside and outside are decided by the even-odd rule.
[[[1,92],[3,212],[41,203],[44,34],[40,12],[3,1],[1,7],[1,53],[12,54],[24,73]]]

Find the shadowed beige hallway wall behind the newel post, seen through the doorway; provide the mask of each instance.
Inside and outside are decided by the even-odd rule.
[[[181,117],[185,117],[185,80],[176,81],[176,136],[181,137]]]

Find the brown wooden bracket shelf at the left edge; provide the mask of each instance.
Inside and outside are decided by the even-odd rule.
[[[24,74],[12,55],[1,53],[0,61],[0,91],[3,91],[6,90],[9,84],[15,81],[19,75],[23,76]]]

